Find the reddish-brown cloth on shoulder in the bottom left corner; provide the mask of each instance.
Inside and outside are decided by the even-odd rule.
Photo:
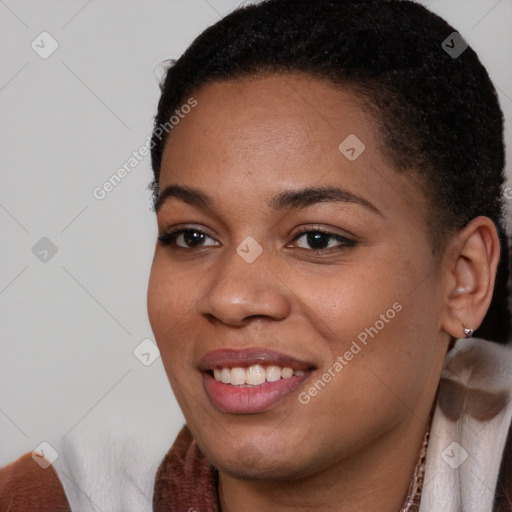
[[[0,512],[70,512],[60,480],[31,453],[0,468]]]

